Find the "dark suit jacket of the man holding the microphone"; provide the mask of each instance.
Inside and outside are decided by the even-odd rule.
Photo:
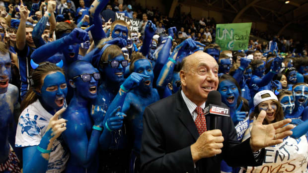
[[[207,127],[210,126],[210,121],[210,116],[207,116]],[[263,161],[255,161],[249,139],[243,143],[236,140],[231,117],[220,116],[217,125],[224,136],[222,154],[199,160],[195,169],[190,145],[196,142],[199,133],[180,90],[147,107],[143,124],[143,173],[220,173],[223,159],[230,166],[259,166]],[[260,156],[264,158],[264,150]]]

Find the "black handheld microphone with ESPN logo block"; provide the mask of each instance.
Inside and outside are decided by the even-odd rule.
[[[211,116],[210,130],[217,129],[218,116],[230,116],[230,108],[221,106],[222,96],[216,90],[210,91],[208,94],[207,105],[204,109],[204,115]]]

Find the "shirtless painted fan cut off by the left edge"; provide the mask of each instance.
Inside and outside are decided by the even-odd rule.
[[[20,113],[18,88],[8,83],[10,77],[11,59],[6,45],[0,42],[0,172],[20,173],[19,160],[11,147],[15,142],[15,119]]]

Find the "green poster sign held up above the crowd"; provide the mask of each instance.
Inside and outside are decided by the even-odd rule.
[[[230,23],[216,25],[216,42],[222,51],[245,50],[248,48],[248,41],[251,29],[250,23]]]

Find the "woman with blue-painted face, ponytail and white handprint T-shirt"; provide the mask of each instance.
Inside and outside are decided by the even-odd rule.
[[[15,147],[22,147],[23,173],[61,173],[70,156],[58,138],[67,128],[67,120],[60,118],[68,92],[64,71],[50,62],[33,68],[31,88],[21,102]]]

